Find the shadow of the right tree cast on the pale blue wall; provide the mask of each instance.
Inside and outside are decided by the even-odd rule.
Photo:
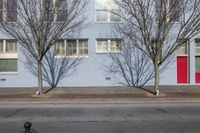
[[[154,69],[149,58],[130,41],[123,41],[121,52],[108,53],[109,61],[104,66],[120,84],[141,88],[154,78]]]

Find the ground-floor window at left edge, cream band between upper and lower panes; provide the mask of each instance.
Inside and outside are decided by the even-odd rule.
[[[16,40],[0,40],[0,72],[17,72]]]

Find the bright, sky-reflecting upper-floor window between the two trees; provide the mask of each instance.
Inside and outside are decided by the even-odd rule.
[[[97,22],[120,22],[120,7],[114,0],[96,0]]]

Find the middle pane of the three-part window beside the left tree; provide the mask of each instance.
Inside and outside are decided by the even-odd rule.
[[[77,55],[77,46],[76,40],[68,40],[67,41],[67,55]]]

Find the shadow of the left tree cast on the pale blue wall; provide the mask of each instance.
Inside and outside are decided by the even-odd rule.
[[[23,50],[23,55],[26,68],[38,77],[37,62],[29,52]],[[42,78],[49,84],[50,90],[55,88],[61,80],[74,74],[82,59],[81,57],[58,57],[55,50],[49,50],[42,60]]]

